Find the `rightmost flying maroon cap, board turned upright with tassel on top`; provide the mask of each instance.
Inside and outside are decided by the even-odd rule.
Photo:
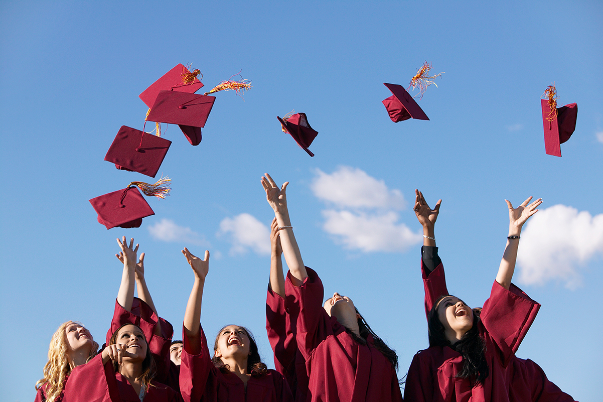
[[[561,156],[561,144],[572,136],[576,129],[578,105],[575,103],[557,107],[557,89],[549,85],[545,90],[548,99],[541,99],[542,124],[545,129],[545,151],[547,155]]]

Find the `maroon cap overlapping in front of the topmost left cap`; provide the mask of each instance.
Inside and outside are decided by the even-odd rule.
[[[191,145],[201,142],[201,127],[212,111],[216,97],[178,91],[159,91],[147,120],[178,124]]]

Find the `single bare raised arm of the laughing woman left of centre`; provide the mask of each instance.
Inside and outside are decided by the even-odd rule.
[[[201,352],[201,340],[199,338],[201,299],[203,299],[205,277],[207,276],[207,272],[209,272],[209,251],[205,250],[205,258],[203,260],[192,255],[186,247],[182,250],[182,254],[185,255],[186,261],[188,261],[195,273],[195,281],[192,285],[191,296],[189,296],[189,301],[186,304],[185,320],[183,324],[184,333],[191,346],[191,354],[198,354]]]

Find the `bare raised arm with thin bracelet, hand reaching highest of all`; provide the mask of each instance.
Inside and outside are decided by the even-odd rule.
[[[289,219],[285,194],[288,184],[289,182],[285,182],[279,189],[272,177],[270,177],[270,174],[266,173],[265,176],[262,176],[262,187],[266,191],[266,199],[274,210],[274,216],[279,225],[280,244],[285,255],[285,261],[289,267],[289,272],[292,275],[291,280],[295,286],[300,286],[308,278],[308,272],[306,272],[306,267],[303,264],[303,260],[301,260],[300,249],[293,234],[291,219]]]

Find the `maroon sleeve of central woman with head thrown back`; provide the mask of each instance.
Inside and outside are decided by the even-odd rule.
[[[291,322],[294,323],[297,348],[308,360],[312,351],[333,334],[330,317],[323,308],[323,282],[317,273],[306,267],[308,278],[300,286],[291,282],[291,272],[285,280],[286,302]]]

